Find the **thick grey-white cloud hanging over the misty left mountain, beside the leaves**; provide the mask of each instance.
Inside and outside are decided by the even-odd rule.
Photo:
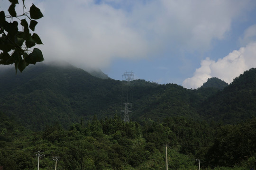
[[[127,26],[123,11],[93,1],[56,1],[44,4],[40,25],[46,59],[101,68],[116,57],[145,57],[149,51],[147,42]]]

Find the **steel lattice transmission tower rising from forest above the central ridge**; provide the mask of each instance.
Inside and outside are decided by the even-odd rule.
[[[124,122],[130,121],[128,112],[131,112],[131,110],[129,110],[128,105],[130,106],[130,109],[131,109],[132,103],[130,101],[132,100],[132,97],[133,97],[133,89],[132,91],[131,90],[129,91],[129,84],[130,84],[130,81],[132,81],[133,79],[134,79],[134,74],[132,71],[124,72],[123,81],[126,87],[125,89],[127,91],[123,93],[123,90],[122,90],[122,103],[125,104],[125,110],[121,110],[121,111],[124,112]],[[123,96],[124,96],[125,102],[123,102]]]

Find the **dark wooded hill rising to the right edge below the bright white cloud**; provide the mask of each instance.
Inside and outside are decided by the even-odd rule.
[[[251,68],[202,102],[199,113],[204,119],[236,123],[255,117],[255,110],[256,68]]]

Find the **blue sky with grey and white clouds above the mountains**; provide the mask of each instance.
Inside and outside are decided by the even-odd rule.
[[[27,10],[32,3],[44,15],[35,33],[46,62],[189,89],[256,67],[256,0],[25,0]]]

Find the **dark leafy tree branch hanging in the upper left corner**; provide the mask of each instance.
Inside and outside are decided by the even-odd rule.
[[[36,19],[44,16],[34,4],[28,12],[24,12],[26,9],[24,0],[22,0],[23,14],[17,15],[15,7],[18,0],[9,1],[11,3],[8,9],[9,15],[6,15],[3,10],[0,11],[0,64],[14,63],[17,73],[18,69],[22,72],[29,64],[36,64],[36,62],[44,60],[41,50],[38,48],[30,50],[36,44],[43,44],[40,37],[36,33],[31,34],[30,30],[34,32],[37,25]],[[26,18],[30,21],[29,25]],[[20,21],[21,30],[18,29],[20,26],[16,20]]]

